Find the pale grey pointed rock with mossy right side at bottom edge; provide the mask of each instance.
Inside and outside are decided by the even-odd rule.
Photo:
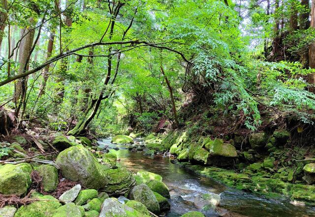
[[[107,198],[102,204],[99,217],[149,217],[135,209],[121,204],[117,199]]]

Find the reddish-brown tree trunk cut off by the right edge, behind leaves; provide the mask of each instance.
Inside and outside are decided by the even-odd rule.
[[[311,8],[311,28],[315,28],[315,2],[312,0]],[[315,68],[315,42],[313,42],[309,47],[309,63],[310,68]],[[309,83],[312,85],[310,91],[315,93],[315,73],[309,74]]]

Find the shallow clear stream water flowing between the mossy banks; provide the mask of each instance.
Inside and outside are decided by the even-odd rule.
[[[207,217],[315,217],[314,207],[300,207],[289,203],[286,199],[266,199],[257,195],[226,187],[211,179],[198,176],[176,164],[168,157],[147,156],[143,152],[131,152],[125,145],[114,145],[111,139],[100,139],[99,147],[113,149],[118,166],[124,166],[132,172],[146,170],[163,177],[163,182],[170,189],[171,210],[166,217],[180,217],[189,211],[197,210],[193,199],[200,193],[213,192],[221,195],[220,207],[204,213]],[[142,143],[141,139],[136,139]]]

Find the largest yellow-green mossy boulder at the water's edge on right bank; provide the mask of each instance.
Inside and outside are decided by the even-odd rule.
[[[208,145],[207,145],[208,144]],[[207,143],[206,149],[211,156],[236,157],[236,149],[228,143],[223,143],[220,139],[215,139],[213,142]]]

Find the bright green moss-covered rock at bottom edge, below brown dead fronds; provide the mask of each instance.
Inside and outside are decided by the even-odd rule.
[[[53,196],[33,193],[32,197],[39,201],[22,206],[15,213],[14,217],[52,217],[61,203]]]

